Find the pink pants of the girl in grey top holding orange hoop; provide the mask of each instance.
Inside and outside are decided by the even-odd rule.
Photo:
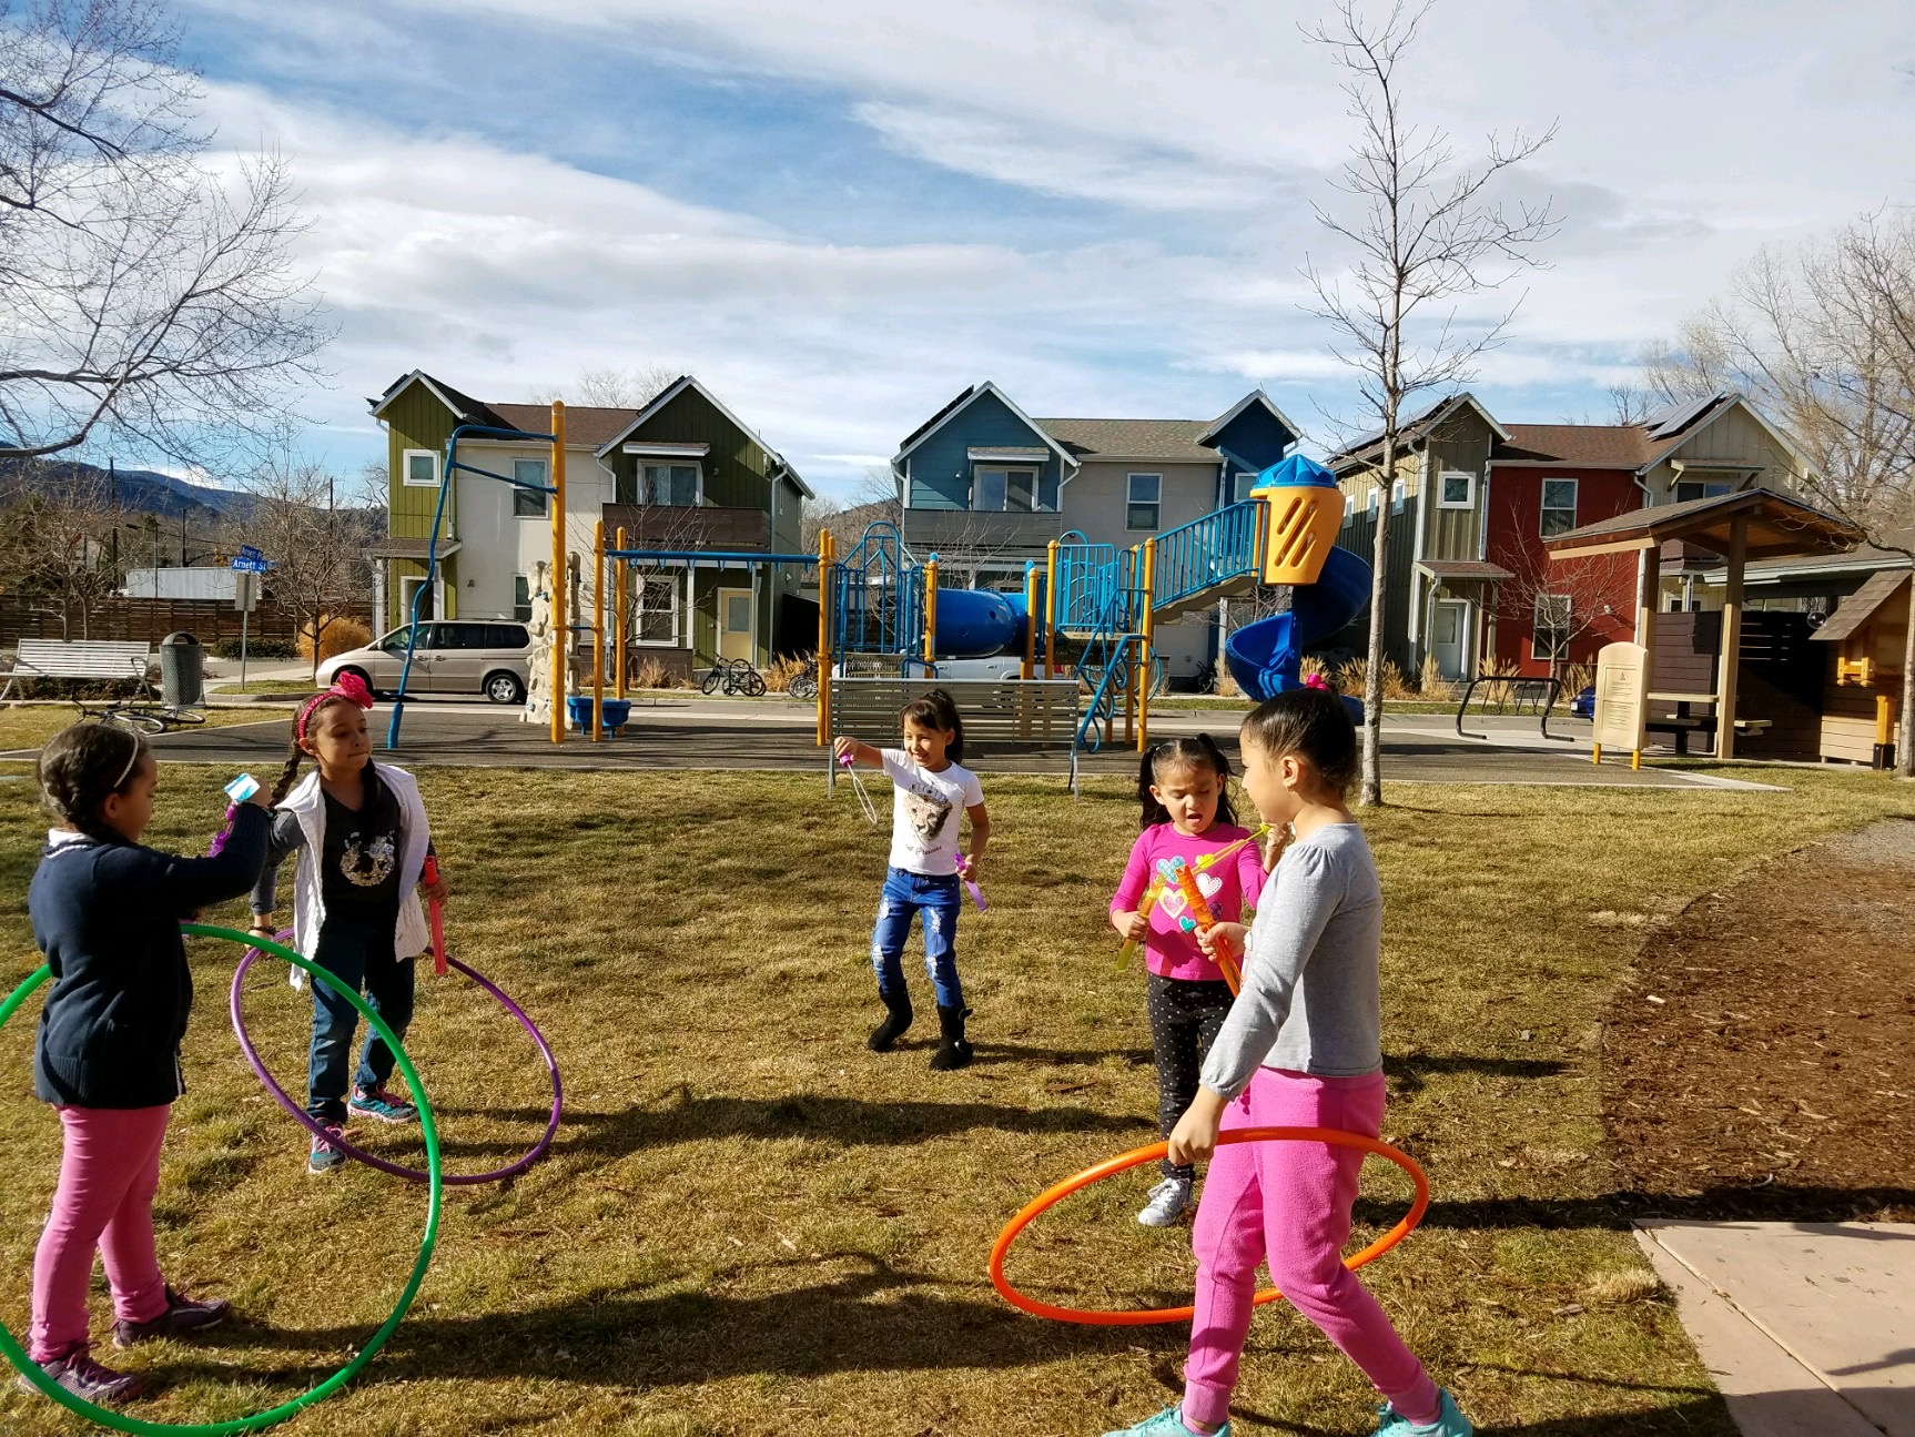
[[[1224,1109],[1224,1130],[1260,1127],[1383,1132],[1383,1073],[1321,1079],[1258,1069]],[[1436,1383],[1390,1318],[1342,1265],[1363,1153],[1321,1142],[1218,1148],[1197,1207],[1197,1318],[1183,1368],[1183,1416],[1222,1424],[1250,1332],[1256,1265],[1285,1299],[1356,1362],[1411,1422],[1434,1422]]]

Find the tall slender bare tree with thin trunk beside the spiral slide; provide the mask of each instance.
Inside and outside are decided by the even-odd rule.
[[[1549,203],[1492,197],[1492,184],[1555,138],[1521,130],[1490,136],[1488,157],[1475,169],[1455,163],[1450,136],[1411,125],[1406,115],[1406,56],[1429,4],[1398,0],[1371,23],[1356,0],[1342,0],[1337,19],[1310,38],[1331,50],[1348,75],[1344,94],[1360,134],[1335,188],[1354,201],[1344,215],[1318,207],[1319,222],[1354,247],[1346,274],[1306,261],[1316,293],[1310,314],[1339,335],[1337,358],[1358,372],[1363,412],[1377,435],[1383,492],[1396,483],[1404,404],[1427,391],[1455,389],[1475,374],[1515,310],[1482,326],[1465,326],[1459,301],[1494,289],[1526,264],[1557,218]],[[1388,506],[1377,513],[1375,577],[1369,598],[1369,680],[1363,692],[1363,786],[1360,801],[1383,803],[1383,625],[1385,536]]]

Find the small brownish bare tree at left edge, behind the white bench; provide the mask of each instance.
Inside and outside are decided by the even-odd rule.
[[[153,519],[153,515],[147,515]],[[119,592],[126,513],[90,466],[27,460],[0,471],[0,590],[59,613],[61,638],[90,638]],[[157,519],[153,519],[157,533]],[[79,632],[75,632],[79,630]]]

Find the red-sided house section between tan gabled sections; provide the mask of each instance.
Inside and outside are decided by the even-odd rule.
[[[1543,540],[1651,502],[1641,481],[1662,445],[1639,423],[1511,423],[1490,454],[1486,559],[1498,584],[1484,636],[1505,673],[1545,676],[1595,663],[1605,644],[1635,636],[1635,556],[1551,563]]]

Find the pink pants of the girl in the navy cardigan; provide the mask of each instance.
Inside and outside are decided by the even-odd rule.
[[[113,1288],[113,1314],[151,1322],[167,1311],[153,1251],[153,1194],[169,1107],[61,1107],[65,1152],[54,1213],[33,1255],[27,1355],[52,1362],[86,1347],[94,1247]]]

